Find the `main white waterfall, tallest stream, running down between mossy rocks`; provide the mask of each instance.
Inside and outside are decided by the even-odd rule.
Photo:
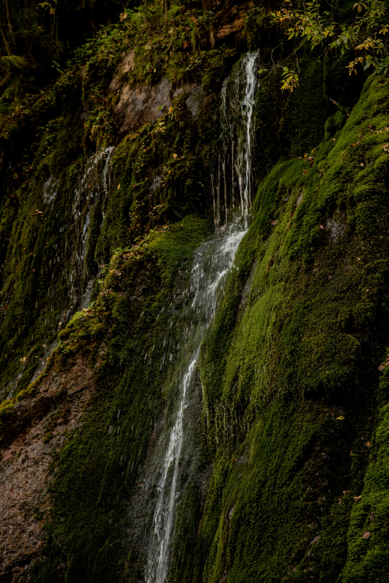
[[[157,484],[157,501],[146,564],[147,583],[165,583],[169,571],[171,539],[178,497],[180,456],[184,441],[184,417],[188,407],[188,388],[197,366],[201,342],[215,314],[223,278],[234,268],[234,257],[248,229],[251,203],[251,144],[255,76],[258,54],[248,53],[235,66],[222,88],[222,152],[211,175],[216,234],[195,250],[191,260],[189,289],[183,295],[191,300],[184,308],[191,325],[185,335],[186,363],[181,360],[179,401],[167,440]],[[238,114],[238,119],[236,118]],[[237,124],[239,132],[237,132]],[[227,176],[229,174],[229,176]],[[237,193],[235,192],[237,189]],[[223,202],[220,193],[223,192]],[[236,194],[240,213],[234,210]],[[231,202],[231,205],[230,205]],[[230,206],[231,208],[230,208]],[[220,227],[220,206],[225,226]],[[166,338],[164,339],[165,342]]]

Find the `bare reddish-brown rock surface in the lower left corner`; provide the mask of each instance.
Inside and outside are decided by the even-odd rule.
[[[11,437],[8,431],[0,442],[0,581],[31,581],[50,521],[53,455],[82,423],[94,392],[90,370],[78,358],[65,373],[50,370],[36,396],[12,410]]]

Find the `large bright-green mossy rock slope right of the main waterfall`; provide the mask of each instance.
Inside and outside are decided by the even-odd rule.
[[[387,577],[387,99],[369,79],[334,139],[258,188],[202,346],[195,580]]]

